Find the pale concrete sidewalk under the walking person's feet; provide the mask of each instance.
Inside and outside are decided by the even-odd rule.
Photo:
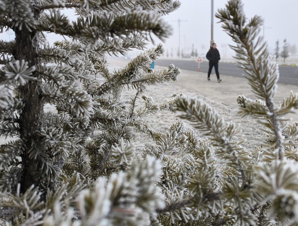
[[[154,70],[164,69],[164,66],[155,66]],[[246,78],[237,78],[227,75],[220,75],[222,81],[217,82],[216,75],[211,75],[211,81],[207,81],[207,73],[195,72],[189,70],[181,70],[178,81],[170,81],[170,83],[180,86],[187,90],[192,90],[207,97],[211,97],[221,103],[235,106],[238,108],[236,98],[238,95],[245,95],[254,100],[257,96],[251,91],[251,87],[247,83]],[[220,72],[220,71],[219,71]],[[277,93],[274,97],[276,104],[288,97],[290,90],[294,93],[298,92],[298,86],[285,85],[278,83]],[[298,113],[298,110],[295,110]],[[298,114],[290,113],[285,116],[291,118],[291,123],[298,121]]]

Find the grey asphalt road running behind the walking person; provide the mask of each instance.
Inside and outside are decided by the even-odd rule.
[[[198,71],[198,63],[195,61],[179,61],[179,60],[163,60],[158,59],[155,65],[168,66],[169,64],[175,64],[176,67],[184,70]],[[208,72],[208,62],[200,63],[200,72]],[[234,77],[243,78],[245,73],[242,69],[236,66],[236,63],[219,63],[219,74],[230,75]],[[214,71],[214,69],[213,69]],[[279,66],[280,78],[279,83],[291,84],[298,86],[298,66]],[[214,72],[215,73],[215,72]]]

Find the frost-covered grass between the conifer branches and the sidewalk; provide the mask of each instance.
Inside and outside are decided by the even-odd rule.
[[[114,68],[118,69],[119,66],[113,64],[109,65],[110,71],[113,71]],[[135,92],[135,90],[124,91],[122,95],[123,102],[128,101],[130,95],[134,96]],[[206,97],[199,93],[183,89],[179,86],[170,83],[148,86],[147,90],[145,91],[145,95],[153,97],[153,100],[156,103],[162,103],[164,99],[169,98],[173,93],[184,93],[184,95],[187,95],[188,97],[194,97],[204,100],[213,109],[216,109],[217,112],[222,117],[224,117],[225,121],[233,121],[236,125],[238,125],[238,128],[241,131],[240,134],[242,134],[243,136],[242,138],[244,140],[244,147],[250,149],[256,146],[258,143],[260,143],[262,140],[264,140],[264,133],[260,130],[259,124],[256,123],[256,121],[250,117],[240,117],[237,114],[238,109],[235,109],[235,107],[232,105],[220,103],[210,97]],[[139,103],[142,104],[142,99],[139,99]],[[46,111],[50,109],[53,109],[52,106],[45,106]],[[147,121],[148,124],[152,126],[154,130],[161,132],[167,131],[172,125],[172,123],[176,122],[176,120],[179,120],[178,115],[172,114],[170,112],[160,112],[158,114],[148,116],[145,119],[145,121]],[[206,138],[199,131],[196,131],[196,133],[200,139]],[[11,138],[9,137],[0,137],[0,144],[4,144],[10,139]],[[145,147],[145,145],[153,144],[153,141],[152,138],[149,138],[147,134],[138,134],[133,144],[136,149],[141,150]]]

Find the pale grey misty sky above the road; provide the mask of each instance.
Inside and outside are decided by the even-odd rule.
[[[218,9],[224,8],[227,0],[214,0],[213,8],[213,39],[217,44],[217,49],[221,54],[221,59],[231,59],[234,51],[228,44],[233,45],[232,39],[221,28],[219,20],[215,18]],[[260,35],[264,34],[265,41],[268,44],[268,50],[274,54],[275,43],[279,40],[280,50],[283,46],[283,40],[287,40],[288,50],[295,45],[297,47],[297,0],[242,0],[246,18],[250,19],[254,15],[261,16],[264,19],[264,26],[261,26]],[[63,10],[63,13],[69,16],[69,19],[75,20],[75,13],[71,10]],[[173,52],[173,57],[177,57],[179,47],[179,27],[180,19],[180,47],[184,54],[190,54],[192,45],[197,49],[199,55],[205,56],[211,40],[211,0],[181,0],[181,7],[163,16],[162,19],[172,27],[173,34],[165,42],[155,39],[155,43],[149,43],[148,48],[162,43],[169,55]],[[62,36],[47,33],[47,39],[50,44],[56,40],[64,39]],[[14,32],[12,30],[0,34],[0,39],[12,40]],[[128,52],[128,55],[134,57],[140,50]],[[296,52],[298,58],[298,51]],[[291,55],[290,51],[290,57]]]

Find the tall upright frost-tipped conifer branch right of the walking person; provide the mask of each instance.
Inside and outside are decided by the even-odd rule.
[[[247,103],[244,104],[243,112],[247,111],[247,107],[251,110],[254,108],[260,112],[259,114],[263,114],[263,117],[271,118],[272,131],[275,133],[276,138],[276,157],[281,160],[284,155],[284,136],[280,127],[279,116],[289,112],[292,108],[297,108],[298,105],[295,97],[289,97],[292,99],[291,103],[288,101],[287,105],[283,103],[279,107],[274,106],[273,98],[277,90],[279,72],[274,57],[269,55],[266,42],[262,44],[263,37],[258,36],[259,26],[263,21],[260,16],[254,16],[247,21],[241,1],[229,2],[227,8],[219,10],[216,17],[223,22],[223,29],[228,32],[237,44],[231,46],[236,52],[235,58],[239,60],[238,63],[243,61],[240,63],[240,68],[246,72],[246,78],[252,87],[252,91],[266,103],[266,109],[263,104],[259,105],[259,101],[252,102],[245,100],[244,97],[239,98],[238,103]],[[291,96],[293,97],[293,94]],[[263,108],[262,113],[261,108]]]

